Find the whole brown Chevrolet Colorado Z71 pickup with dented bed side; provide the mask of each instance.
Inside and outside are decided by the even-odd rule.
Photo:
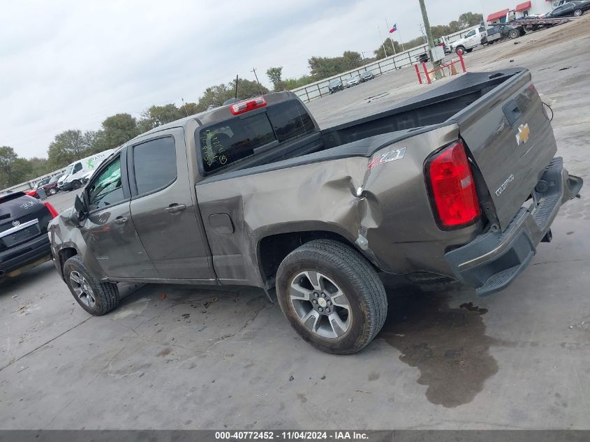
[[[524,68],[322,130],[276,92],[126,142],[51,221],[52,254],[89,314],[119,281],[256,286],[305,341],[355,353],[387,316],[377,270],[489,295],[526,269],[582,188],[556,151]]]

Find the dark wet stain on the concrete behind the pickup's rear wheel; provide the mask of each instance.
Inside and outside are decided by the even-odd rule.
[[[388,290],[388,319],[380,337],[401,352],[402,362],[420,370],[432,404],[469,404],[485,381],[498,372],[491,346],[512,346],[485,334],[483,315],[473,302],[449,307],[450,295],[425,293],[414,286]]]

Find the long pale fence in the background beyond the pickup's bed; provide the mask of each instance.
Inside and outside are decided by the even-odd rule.
[[[471,31],[471,29],[478,27],[479,25],[468,29],[463,29],[462,31],[455,32],[455,34],[445,36],[445,38],[448,43],[452,43],[459,40],[460,38],[463,38],[463,36]],[[304,103],[309,103],[316,98],[321,98],[330,94],[330,90],[328,89],[327,85],[332,80],[346,81],[349,78],[353,78],[356,75],[360,75],[361,73],[367,71],[373,73],[373,75],[382,75],[384,73],[396,71],[397,69],[401,69],[406,66],[412,66],[415,63],[415,57],[427,52],[427,48],[428,45],[416,46],[404,52],[399,52],[398,54],[390,55],[384,59],[374,61],[373,63],[365,64],[364,66],[352,69],[351,71],[346,71],[330,78],[325,78],[314,83],[306,84],[302,87],[297,87],[291,91],[301,98]]]

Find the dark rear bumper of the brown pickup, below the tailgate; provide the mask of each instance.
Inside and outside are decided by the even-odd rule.
[[[504,232],[479,235],[469,244],[445,253],[455,277],[475,287],[478,295],[506,288],[529,265],[536,246],[550,232],[559,207],[578,195],[582,178],[569,175],[561,158],[553,159],[541,181],[548,184],[528,201]],[[550,235],[547,235],[548,240]]]

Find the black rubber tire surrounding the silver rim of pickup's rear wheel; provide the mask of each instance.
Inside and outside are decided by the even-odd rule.
[[[320,336],[304,325],[295,311],[290,287],[295,277],[306,271],[325,275],[346,296],[350,322],[341,336]],[[295,331],[312,346],[337,355],[356,353],[367,346],[383,327],[388,311],[385,288],[369,261],[351,246],[333,240],[314,240],[289,253],[276,273],[276,292],[281,310]],[[322,318],[330,324],[327,316]]]

